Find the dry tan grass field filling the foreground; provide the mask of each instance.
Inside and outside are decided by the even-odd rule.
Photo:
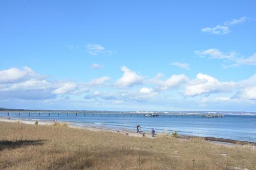
[[[256,169],[252,147],[0,122],[0,169]]]

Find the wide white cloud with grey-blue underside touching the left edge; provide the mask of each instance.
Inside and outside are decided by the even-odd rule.
[[[49,81],[46,76],[36,74],[29,67],[0,70],[0,75],[2,99],[52,99],[59,94],[80,94],[88,91],[88,88],[81,83]]]

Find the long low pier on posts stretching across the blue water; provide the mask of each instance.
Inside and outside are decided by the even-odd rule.
[[[95,116],[95,115],[115,115],[115,116],[137,116],[143,115],[144,117],[172,117],[172,116],[199,116],[202,118],[218,118],[218,117],[224,117],[223,114],[200,114],[200,113],[144,113],[144,112],[104,112],[104,111],[98,111],[98,112],[70,112],[70,111],[0,111],[0,113],[6,113],[6,116],[11,116],[13,114],[16,114],[17,116],[59,116],[59,115],[67,115],[67,116]]]

